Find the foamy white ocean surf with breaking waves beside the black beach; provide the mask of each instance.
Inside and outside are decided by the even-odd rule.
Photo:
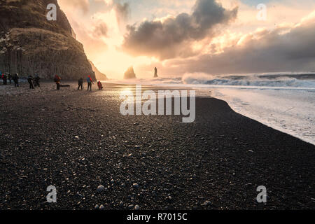
[[[221,76],[186,73],[182,78],[118,83],[192,87],[202,97],[223,99],[237,113],[315,145],[315,73],[312,72]]]

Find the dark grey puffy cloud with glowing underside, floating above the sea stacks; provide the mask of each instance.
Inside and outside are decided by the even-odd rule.
[[[237,8],[227,10],[215,0],[197,0],[191,14],[128,26],[122,50],[160,59],[188,57],[194,54],[194,41],[214,36],[216,25],[228,24],[236,16]]]

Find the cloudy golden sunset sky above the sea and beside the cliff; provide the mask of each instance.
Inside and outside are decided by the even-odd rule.
[[[123,78],[129,66],[138,78],[153,77],[155,66],[161,77],[315,71],[315,0],[58,3],[109,78]]]

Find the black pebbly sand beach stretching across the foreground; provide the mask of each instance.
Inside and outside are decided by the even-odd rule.
[[[0,209],[315,209],[315,146],[221,100],[197,98],[195,123],[184,124],[121,116],[123,87],[53,88],[1,86]],[[56,204],[45,202],[50,185]],[[255,201],[258,186],[267,204]]]

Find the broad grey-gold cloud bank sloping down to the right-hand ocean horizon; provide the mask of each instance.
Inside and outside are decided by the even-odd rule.
[[[172,59],[164,66],[174,73],[315,71],[315,10],[296,25],[244,34],[221,53]]]

